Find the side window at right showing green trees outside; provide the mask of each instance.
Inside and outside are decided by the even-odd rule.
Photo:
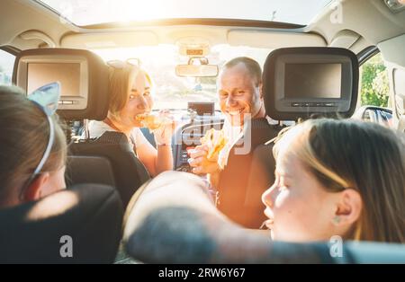
[[[360,95],[362,106],[388,107],[388,71],[381,53],[368,59],[360,67]]]

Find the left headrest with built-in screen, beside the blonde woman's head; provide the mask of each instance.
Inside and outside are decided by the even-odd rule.
[[[94,53],[67,48],[22,51],[15,60],[14,84],[27,93],[58,81],[58,114],[65,119],[105,119],[109,105],[108,66]]]

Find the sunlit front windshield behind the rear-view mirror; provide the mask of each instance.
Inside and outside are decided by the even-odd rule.
[[[138,57],[142,67],[153,81],[155,109],[187,109],[188,101],[213,101],[218,106],[217,77],[179,77],[175,75],[175,65],[187,63],[188,58],[178,53],[175,45],[158,45],[138,48],[94,49],[94,53],[105,61],[125,60]],[[207,56],[210,64],[219,67],[233,57],[247,56],[257,60],[263,67],[271,49],[231,47],[216,45]]]

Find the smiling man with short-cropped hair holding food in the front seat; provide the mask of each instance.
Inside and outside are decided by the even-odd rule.
[[[250,57],[231,59],[223,66],[217,86],[220,110],[226,117],[223,131],[228,139],[227,145],[220,151],[218,161],[207,160],[208,148],[204,146],[197,146],[190,154],[193,173],[210,174],[211,184],[215,187],[218,186],[220,166],[226,166],[230,149],[244,137],[245,121],[266,118],[262,70],[254,59]]]

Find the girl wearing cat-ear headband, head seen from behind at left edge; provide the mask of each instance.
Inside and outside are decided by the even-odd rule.
[[[58,85],[51,87],[58,92]],[[66,187],[65,134],[48,105],[34,98],[27,99],[20,88],[0,86],[0,207],[14,207]],[[58,95],[53,104],[58,105]]]

